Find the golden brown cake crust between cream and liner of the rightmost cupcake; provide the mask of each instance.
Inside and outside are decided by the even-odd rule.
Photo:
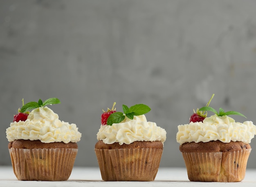
[[[249,144],[243,142],[223,143],[219,140],[210,142],[186,142],[180,145],[181,152],[230,152],[251,149]]]

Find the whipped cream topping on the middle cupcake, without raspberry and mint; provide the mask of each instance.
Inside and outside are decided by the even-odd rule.
[[[133,120],[125,117],[120,123],[101,125],[97,133],[97,140],[106,144],[118,142],[120,145],[135,141],[161,141],[166,140],[166,131],[157,127],[155,122],[148,122],[145,115],[134,116]]]

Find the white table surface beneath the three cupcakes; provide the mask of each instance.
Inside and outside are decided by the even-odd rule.
[[[255,186],[256,169],[247,169],[245,179],[236,183],[190,182],[186,168],[160,167],[154,181],[151,182],[118,182],[103,181],[97,167],[74,167],[66,181],[20,181],[13,174],[12,167],[0,166],[0,187],[198,187],[198,186]]]

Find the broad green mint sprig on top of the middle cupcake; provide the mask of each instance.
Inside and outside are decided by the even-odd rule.
[[[107,120],[107,125],[112,125],[113,123],[119,123],[122,120],[124,120],[125,116],[129,119],[133,119],[133,116],[140,116],[142,114],[146,114],[150,111],[150,107],[144,104],[137,104],[133,105],[130,108],[126,105],[123,105],[123,111],[122,112],[114,112],[110,114]]]

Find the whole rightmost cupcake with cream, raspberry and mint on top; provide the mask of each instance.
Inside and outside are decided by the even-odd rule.
[[[256,134],[256,126],[252,121],[236,122],[228,116],[244,116],[239,112],[225,112],[222,108],[217,112],[209,107],[210,101],[206,107],[197,109],[189,124],[178,126],[176,139],[188,178],[201,182],[239,182],[245,178],[252,150],[249,143]],[[214,115],[207,117],[205,111]]]

